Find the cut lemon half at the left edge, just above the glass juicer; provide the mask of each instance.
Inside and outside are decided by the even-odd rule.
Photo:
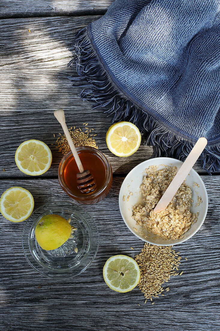
[[[12,222],[22,222],[27,219],[34,208],[34,199],[31,193],[22,187],[11,187],[6,190],[0,199],[0,212]]]

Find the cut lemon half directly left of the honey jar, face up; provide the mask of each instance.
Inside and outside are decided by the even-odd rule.
[[[40,140],[24,141],[15,153],[15,162],[19,170],[26,175],[42,175],[51,166],[51,150]]]

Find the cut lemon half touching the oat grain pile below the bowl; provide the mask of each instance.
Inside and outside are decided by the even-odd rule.
[[[103,277],[110,289],[125,293],[139,283],[140,269],[137,262],[129,256],[115,255],[106,261]]]

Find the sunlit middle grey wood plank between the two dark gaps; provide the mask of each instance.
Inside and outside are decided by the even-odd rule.
[[[105,143],[105,134],[111,125],[110,118],[106,118],[101,109],[92,110],[92,103],[82,101],[78,97],[82,88],[72,87],[68,79],[69,75],[76,74],[74,68],[66,68],[72,58],[70,50],[74,34],[94,19],[98,19],[98,16],[0,22],[3,43],[0,50],[0,177],[24,176],[14,162],[14,153],[23,140],[36,138],[49,145],[54,143],[53,133],[57,135],[61,130],[52,114],[58,107],[65,110],[70,126],[80,126],[84,121],[93,125],[98,134],[98,146],[108,155],[115,173],[126,174],[152,156],[152,148],[143,146],[144,138],[138,152],[128,159],[112,155]],[[11,136],[6,134],[9,131]],[[50,147],[54,161],[44,175],[47,177],[57,175],[60,161],[55,147]],[[204,172],[199,163],[195,169]]]

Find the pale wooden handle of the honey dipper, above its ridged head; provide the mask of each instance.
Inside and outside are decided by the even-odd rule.
[[[69,144],[69,147],[71,149],[71,152],[73,153],[73,156],[74,156],[74,159],[76,161],[76,164],[79,168],[79,171],[82,173],[84,172],[84,168],[83,168],[83,165],[80,161],[80,158],[79,158],[79,155],[76,151],[76,147],[73,143],[73,140],[71,138],[71,135],[69,133],[69,130],[66,126],[66,120],[65,120],[65,115],[64,115],[64,111],[62,108],[60,109],[57,109],[54,111],[54,116],[55,118],[58,120],[58,122],[61,124],[62,128],[63,128],[63,132],[65,133],[65,136],[66,136],[66,139],[68,141],[68,144]]]

